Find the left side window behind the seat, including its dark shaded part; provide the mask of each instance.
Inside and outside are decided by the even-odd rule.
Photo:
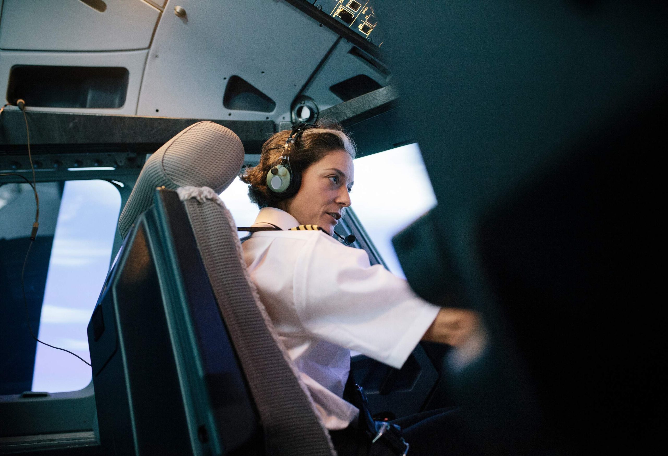
[[[43,342],[90,361],[86,327],[112,253],[120,194],[110,182],[73,180],[37,184],[39,233],[25,265],[27,313]],[[34,221],[27,184],[0,187],[0,394],[75,391],[91,380],[90,367],[30,336],[21,268]]]

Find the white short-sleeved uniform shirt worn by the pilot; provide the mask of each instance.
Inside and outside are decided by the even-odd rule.
[[[254,226],[288,230],[297,219],[263,208]],[[343,388],[355,350],[399,369],[440,310],[416,296],[364,250],[321,231],[261,231],[243,244],[260,299],[328,429],[344,429],[357,408]]]

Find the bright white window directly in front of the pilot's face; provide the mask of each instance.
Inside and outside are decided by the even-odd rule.
[[[418,144],[355,159],[352,207],[391,272],[403,270],[392,236],[436,205]]]

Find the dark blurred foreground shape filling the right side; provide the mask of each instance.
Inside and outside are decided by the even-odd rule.
[[[663,446],[668,5],[402,7],[383,47],[439,204],[395,246],[418,294],[488,327],[484,358],[453,359],[468,451]]]

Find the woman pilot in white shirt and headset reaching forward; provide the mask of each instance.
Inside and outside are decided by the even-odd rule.
[[[339,455],[371,445],[343,399],[351,350],[399,369],[420,340],[462,345],[477,325],[474,312],[418,298],[405,280],[370,266],[364,250],[332,237],[351,205],[353,158],[341,126],[320,121],[271,136],[259,164],[240,176],[261,209],[253,226],[273,228],[242,244],[246,265]],[[427,415],[403,431],[411,455],[458,446],[443,429],[448,413]]]

